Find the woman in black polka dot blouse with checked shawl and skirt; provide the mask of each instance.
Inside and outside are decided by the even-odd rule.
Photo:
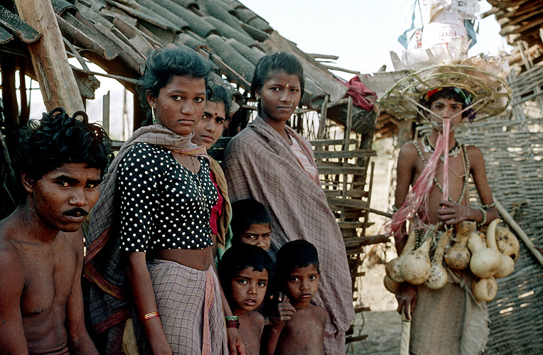
[[[114,159],[87,240],[90,321],[104,334],[107,354],[121,351],[130,317],[140,354],[228,352],[210,267],[217,190],[205,148],[190,142],[210,70],[190,50],[155,50],[147,58],[141,91],[154,124],[134,132]],[[229,332],[234,342],[236,332]],[[237,354],[235,346],[230,351]]]

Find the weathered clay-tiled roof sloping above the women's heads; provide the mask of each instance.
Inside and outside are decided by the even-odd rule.
[[[296,43],[283,38],[267,21],[236,0],[51,2],[68,56],[81,55],[95,62],[131,92],[135,91],[134,79],[144,70],[146,56],[165,45],[192,48],[209,58],[216,66],[216,79],[224,75],[233,84],[232,91],[249,90],[254,65],[263,55],[288,51],[302,62],[306,74],[306,94],[301,104],[318,108],[325,97],[337,102],[347,92],[347,87],[318,62],[315,55],[303,53]],[[9,14],[9,18],[0,21],[0,55],[18,53],[28,58],[25,48],[28,36],[9,38],[9,35],[24,34],[31,28],[16,16],[11,0],[0,0],[0,4],[3,3],[5,9],[0,8],[0,13]],[[2,41],[2,38],[5,39]],[[38,39],[39,33],[33,33],[31,38]],[[75,69],[75,73],[82,96],[94,98],[96,83],[90,71],[84,67]],[[33,76],[31,72],[28,75]],[[361,111],[355,108],[355,121],[364,119]],[[344,121],[340,114],[329,118],[339,123]]]

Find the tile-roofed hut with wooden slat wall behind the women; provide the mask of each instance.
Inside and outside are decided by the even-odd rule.
[[[147,114],[135,94],[137,79],[151,50],[166,45],[195,50],[215,66],[215,80],[225,84],[240,105],[226,136],[242,129],[254,115],[256,105],[248,92],[259,58],[285,51],[301,61],[306,94],[291,126],[312,139],[323,189],[345,236],[355,286],[355,278],[362,275],[362,247],[387,241],[385,236],[365,236],[371,197],[367,168],[375,155],[371,144],[377,110],[353,104],[343,80],[330,72],[333,67],[327,61],[335,57],[303,53],[237,0],[0,0],[0,127],[6,137],[0,152],[0,218],[16,203],[9,191],[14,177],[8,152],[16,130],[29,118],[25,77],[39,82],[48,110],[62,106],[69,113],[85,109],[85,100],[95,98],[97,76],[114,78],[134,93],[135,130]],[[76,58],[79,65],[70,65],[68,58]],[[106,73],[93,72],[89,62]],[[107,105],[104,99],[106,130]],[[332,134],[338,127],[336,139]],[[217,142],[212,153],[218,158],[227,140]],[[360,305],[356,289],[354,300]]]

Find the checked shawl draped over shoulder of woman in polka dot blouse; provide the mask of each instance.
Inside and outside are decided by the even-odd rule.
[[[207,158],[205,147],[191,143],[192,137],[193,133],[179,136],[158,124],[141,127],[123,144],[100,185],[100,199],[92,209],[83,271],[91,281],[90,323],[97,334],[107,332],[107,354],[120,353],[124,323],[131,315],[124,288],[121,241],[118,231],[112,229],[117,217],[115,192],[119,162],[131,146],[140,142]]]

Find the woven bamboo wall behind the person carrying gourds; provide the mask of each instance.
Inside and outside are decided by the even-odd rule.
[[[543,68],[528,74],[543,75]],[[539,89],[530,88],[526,80],[525,75],[510,80],[515,93],[512,117],[476,122],[456,136],[459,141],[483,151],[493,195],[534,244],[542,247],[543,110],[540,103],[543,95]],[[498,295],[488,303],[487,355],[542,354],[543,351],[543,266],[522,241],[520,244],[515,272],[498,280]]]

